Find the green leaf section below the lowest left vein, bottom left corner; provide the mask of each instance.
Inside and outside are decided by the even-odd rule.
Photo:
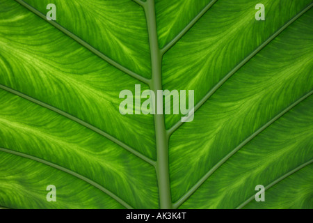
[[[89,183],[63,171],[8,153],[0,152],[0,157],[2,206],[28,209],[125,208]],[[51,184],[61,188],[57,203],[46,200],[46,188]]]

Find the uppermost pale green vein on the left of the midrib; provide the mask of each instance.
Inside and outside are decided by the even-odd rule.
[[[26,3],[26,2],[24,2],[22,0],[15,0],[15,1],[20,3],[22,6],[24,6],[28,10],[30,10],[32,13],[35,13],[35,15],[38,15],[39,17],[41,17],[46,22],[49,22],[49,24],[51,24],[52,26],[56,27],[56,29],[62,31],[63,33],[65,33],[67,36],[70,36],[70,38],[72,38],[73,40],[77,41],[77,43],[81,44],[83,47],[86,47],[86,49],[89,49],[91,52],[93,52],[94,54],[99,56],[104,61],[110,63],[115,68],[118,68],[119,70],[122,70],[122,72],[125,72],[127,75],[129,75],[131,77],[134,77],[135,79],[138,79],[139,81],[141,81],[141,82],[143,82],[145,84],[149,84],[150,83],[150,79],[142,77],[141,75],[138,75],[135,72],[133,72],[133,71],[125,68],[124,66],[120,65],[120,63],[117,63],[117,62],[113,61],[111,58],[109,58],[108,56],[102,54],[102,52],[99,52],[99,50],[95,49],[95,47],[93,47],[92,45],[86,43],[84,40],[82,40],[81,38],[76,36],[74,33],[68,31],[63,26],[58,24],[57,22],[54,22],[53,20],[50,20],[50,21],[47,20],[46,15],[40,13],[40,11],[36,10],[35,8],[33,8],[28,3]]]

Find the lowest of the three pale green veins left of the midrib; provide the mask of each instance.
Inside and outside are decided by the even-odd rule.
[[[85,181],[86,183],[89,183],[90,185],[93,185],[94,187],[96,187],[97,189],[101,190],[102,192],[108,194],[110,197],[112,197],[115,201],[118,201],[118,203],[120,203],[122,206],[125,206],[125,208],[128,209],[133,209],[128,203],[126,203],[125,201],[123,201],[122,199],[120,199],[120,197],[116,196],[115,194],[113,194],[111,191],[107,190],[106,188],[102,187],[102,185],[99,185],[98,183],[95,183],[95,181],[90,180],[89,178],[86,178],[85,176],[82,176],[81,174],[77,174],[74,171],[71,171],[70,169],[66,169],[64,167],[59,166],[58,164],[54,164],[52,162],[48,162],[47,160],[42,160],[38,157],[34,157],[32,155],[27,155],[24,153],[19,153],[17,151],[12,151],[10,149],[7,148],[0,148],[0,151],[5,152],[5,153],[10,153],[13,155],[19,155],[21,157],[25,157],[28,158],[30,160],[35,160],[37,162],[41,162],[42,164],[46,164],[49,167],[54,167],[55,169],[59,169],[61,171],[64,171],[67,174],[70,174],[72,176],[76,176],[77,178]]]

